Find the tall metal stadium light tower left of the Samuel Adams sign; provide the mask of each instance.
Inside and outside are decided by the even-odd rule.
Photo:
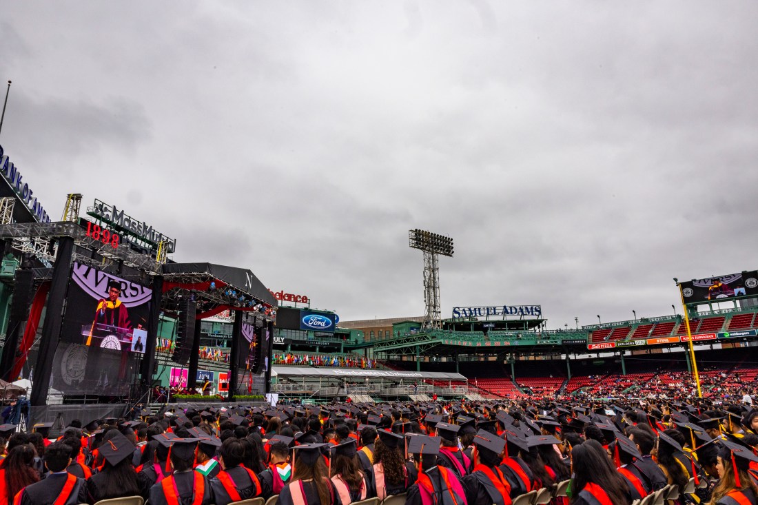
[[[453,257],[453,239],[431,231],[408,231],[409,245],[412,249],[424,252],[424,328],[440,327],[440,254]]]

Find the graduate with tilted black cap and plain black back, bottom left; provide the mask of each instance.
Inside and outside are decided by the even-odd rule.
[[[92,503],[129,496],[148,497],[147,482],[132,466],[133,450],[134,444],[121,433],[114,434],[100,446],[105,464],[87,481],[87,494]]]

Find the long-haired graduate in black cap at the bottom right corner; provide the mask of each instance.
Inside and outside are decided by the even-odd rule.
[[[719,441],[718,463],[721,480],[713,489],[709,505],[756,505],[758,487],[750,479],[750,463],[758,463],[758,456],[747,447],[731,441]]]

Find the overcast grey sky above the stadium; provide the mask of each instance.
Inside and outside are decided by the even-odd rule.
[[[758,260],[756,2],[4,2],[0,145],[343,320],[672,313]],[[3,95],[5,86],[2,86]]]

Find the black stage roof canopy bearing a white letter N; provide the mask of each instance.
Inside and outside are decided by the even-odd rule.
[[[162,268],[163,276],[168,281],[182,283],[201,283],[218,280],[235,290],[249,294],[272,307],[278,305],[277,299],[246,268],[236,268],[212,263],[166,263]]]

